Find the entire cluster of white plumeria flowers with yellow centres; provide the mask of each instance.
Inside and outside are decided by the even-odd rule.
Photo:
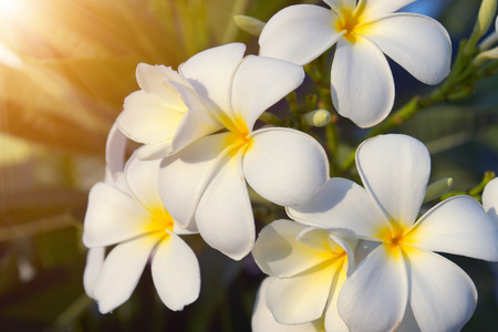
[[[259,55],[230,43],[177,71],[137,66],[141,90],[111,131],[106,180],[91,190],[84,221],[85,290],[102,313],[131,297],[147,261],[166,307],[195,301],[199,266],[181,237],[199,234],[231,259],[252,251],[269,276],[253,331],[457,331],[471,317],[473,281],[435,251],[498,260],[497,180],[484,207],[460,195],[419,216],[430,157],[416,138],[364,141],[355,154],[361,187],[330,178],[317,136],[257,124],[303,83],[302,65],[334,44],[330,98],[360,127],[393,106],[383,53],[424,83],[448,75],[446,30],[394,13],[413,0],[324,2],[330,9],[278,12],[262,29]],[[125,162],[126,139],[142,145]],[[269,224],[256,240],[248,186],[292,220]]]

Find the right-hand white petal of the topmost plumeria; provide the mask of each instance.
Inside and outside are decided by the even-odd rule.
[[[443,25],[424,15],[400,13],[372,23],[364,35],[418,81],[437,84],[452,64],[452,41]]]

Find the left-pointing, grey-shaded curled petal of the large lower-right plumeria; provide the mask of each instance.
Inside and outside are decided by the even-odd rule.
[[[340,177],[331,178],[308,203],[288,207],[287,214],[305,225],[350,228],[362,237],[372,237],[385,226],[366,190]]]

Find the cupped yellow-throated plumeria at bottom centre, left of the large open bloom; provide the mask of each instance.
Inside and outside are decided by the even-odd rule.
[[[338,294],[353,272],[356,243],[357,236],[349,229],[312,228],[283,219],[264,227],[252,256],[264,273],[274,277],[266,304],[276,321],[302,324],[323,317],[328,331],[347,331],[338,312]],[[255,320],[253,325],[264,324]]]

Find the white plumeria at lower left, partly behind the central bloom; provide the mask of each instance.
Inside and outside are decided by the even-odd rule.
[[[92,267],[89,289],[102,313],[131,297],[149,257],[154,286],[166,307],[181,310],[199,294],[197,258],[178,237],[186,231],[163,207],[157,190],[159,162],[133,155],[114,185],[98,183],[90,191],[83,243],[97,250],[89,260],[102,260],[103,248],[116,245],[101,267]]]

